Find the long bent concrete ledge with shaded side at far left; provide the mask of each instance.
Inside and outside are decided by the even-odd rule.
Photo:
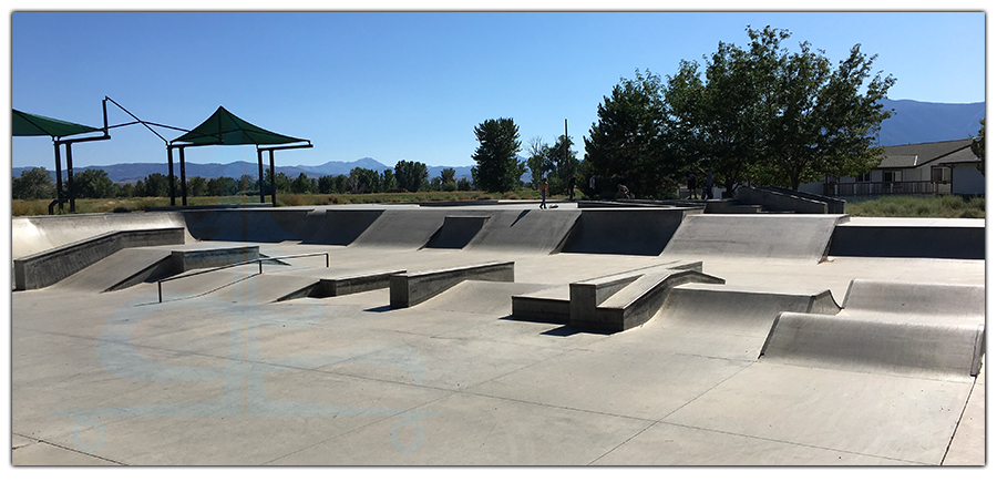
[[[115,230],[14,259],[17,289],[37,289],[66,278],[124,248],[184,244],[184,228]]]

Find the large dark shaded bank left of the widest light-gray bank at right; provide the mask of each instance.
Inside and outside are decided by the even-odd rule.
[[[562,253],[658,256],[688,213],[679,208],[586,209]]]

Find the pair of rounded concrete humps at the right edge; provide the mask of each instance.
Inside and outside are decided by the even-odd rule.
[[[836,316],[782,314],[762,348],[769,360],[922,378],[979,373],[983,286],[854,280]]]

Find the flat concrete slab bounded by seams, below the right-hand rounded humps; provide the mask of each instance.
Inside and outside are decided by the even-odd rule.
[[[972,379],[925,380],[758,362],[662,421],[938,465]]]

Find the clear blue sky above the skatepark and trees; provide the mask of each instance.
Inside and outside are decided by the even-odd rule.
[[[278,6],[271,6],[278,7]],[[523,145],[582,137],[604,95],[635,69],[668,75],[746,27],[792,32],[835,63],[855,43],[897,79],[890,98],[985,100],[979,12],[13,12],[11,106],[100,126],[106,95],[143,120],[192,129],[219,105],[311,140],[278,165],[373,157],[471,165],[473,129],[512,117]],[[109,106],[110,123],[131,119]],[[160,130],[166,139],[179,132]],[[166,162],[142,126],[78,144],[74,166]],[[53,168],[48,137],[12,139],[13,166]],[[525,154],[522,152],[521,154]],[[580,153],[579,153],[580,154]],[[256,161],[202,147],[187,162]]]

